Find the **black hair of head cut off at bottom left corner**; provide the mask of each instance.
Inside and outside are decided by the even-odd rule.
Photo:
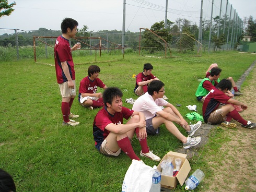
[[[9,173],[0,169],[0,191],[1,192],[16,192],[16,186],[13,177]]]

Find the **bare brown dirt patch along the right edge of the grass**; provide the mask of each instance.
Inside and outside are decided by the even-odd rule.
[[[240,87],[250,71],[253,69],[256,61],[237,81],[237,87]],[[243,96],[238,97],[239,101],[247,104],[248,109],[241,112],[241,116],[246,120],[256,123],[256,68],[252,71],[252,79],[249,81],[250,87],[242,89]],[[230,138],[220,149],[220,153],[215,156],[209,154],[207,160],[211,164],[213,175],[211,178],[205,178],[204,182],[210,184],[210,188],[204,191],[256,191],[256,128],[247,129],[241,127],[238,122],[237,128],[229,129],[222,127],[225,131],[225,137]],[[197,135],[201,135],[202,141],[198,147],[188,150],[179,149],[177,152],[187,153],[188,158],[198,154],[199,148],[202,148],[208,140],[208,134],[212,125],[203,124]]]

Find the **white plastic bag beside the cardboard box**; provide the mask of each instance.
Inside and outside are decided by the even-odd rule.
[[[154,169],[144,163],[132,160],[123,181],[122,192],[148,192],[152,185]]]

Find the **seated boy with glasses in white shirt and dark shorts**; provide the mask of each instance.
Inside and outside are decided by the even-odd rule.
[[[170,133],[182,141],[184,149],[196,146],[201,141],[201,137],[192,136],[199,129],[202,122],[199,121],[194,125],[189,125],[176,107],[162,99],[165,94],[164,86],[165,84],[160,80],[149,83],[147,92],[135,101],[132,109],[144,113],[148,134],[158,134],[159,126],[165,124]],[[165,108],[162,109],[160,106],[165,106]],[[172,122],[187,130],[189,136],[183,136]]]

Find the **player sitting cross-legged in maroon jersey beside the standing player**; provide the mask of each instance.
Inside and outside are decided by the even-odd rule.
[[[88,76],[80,81],[78,102],[91,110],[104,106],[102,93],[97,93],[97,88],[107,89],[107,86],[98,78],[99,73],[99,66],[91,65],[88,68]]]

